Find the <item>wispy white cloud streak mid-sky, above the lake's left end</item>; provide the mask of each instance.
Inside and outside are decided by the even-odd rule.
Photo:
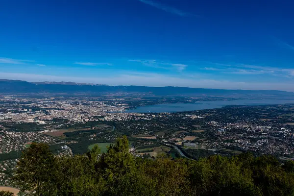
[[[129,59],[128,61],[139,62],[144,66],[158,68],[158,69],[165,69],[165,70],[175,69],[178,72],[182,72],[188,67],[188,65],[185,65],[185,64],[158,62],[154,59],[151,59],[151,60]]]

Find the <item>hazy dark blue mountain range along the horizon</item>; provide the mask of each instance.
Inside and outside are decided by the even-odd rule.
[[[230,96],[230,97],[294,97],[293,92],[274,90],[224,90],[186,87],[147,87],[147,86],[108,86],[75,82],[27,82],[22,80],[0,79],[0,93],[86,93],[99,95],[105,93],[136,93],[154,96]]]

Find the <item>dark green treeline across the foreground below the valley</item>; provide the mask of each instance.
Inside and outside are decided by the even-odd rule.
[[[135,158],[126,137],[107,153],[56,157],[45,144],[23,153],[15,182],[35,196],[293,196],[294,162],[244,153],[198,161]]]

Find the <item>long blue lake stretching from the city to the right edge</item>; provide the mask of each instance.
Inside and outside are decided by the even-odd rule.
[[[193,110],[215,109],[226,105],[269,105],[294,103],[294,100],[286,99],[240,99],[225,101],[197,101],[195,103],[163,103],[147,105],[136,109],[125,110],[127,113],[162,113],[162,112],[184,112]]]

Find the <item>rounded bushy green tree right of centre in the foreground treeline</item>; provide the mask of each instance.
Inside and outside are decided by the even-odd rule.
[[[191,166],[193,195],[256,196],[259,195],[250,172],[226,157],[210,156]]]

